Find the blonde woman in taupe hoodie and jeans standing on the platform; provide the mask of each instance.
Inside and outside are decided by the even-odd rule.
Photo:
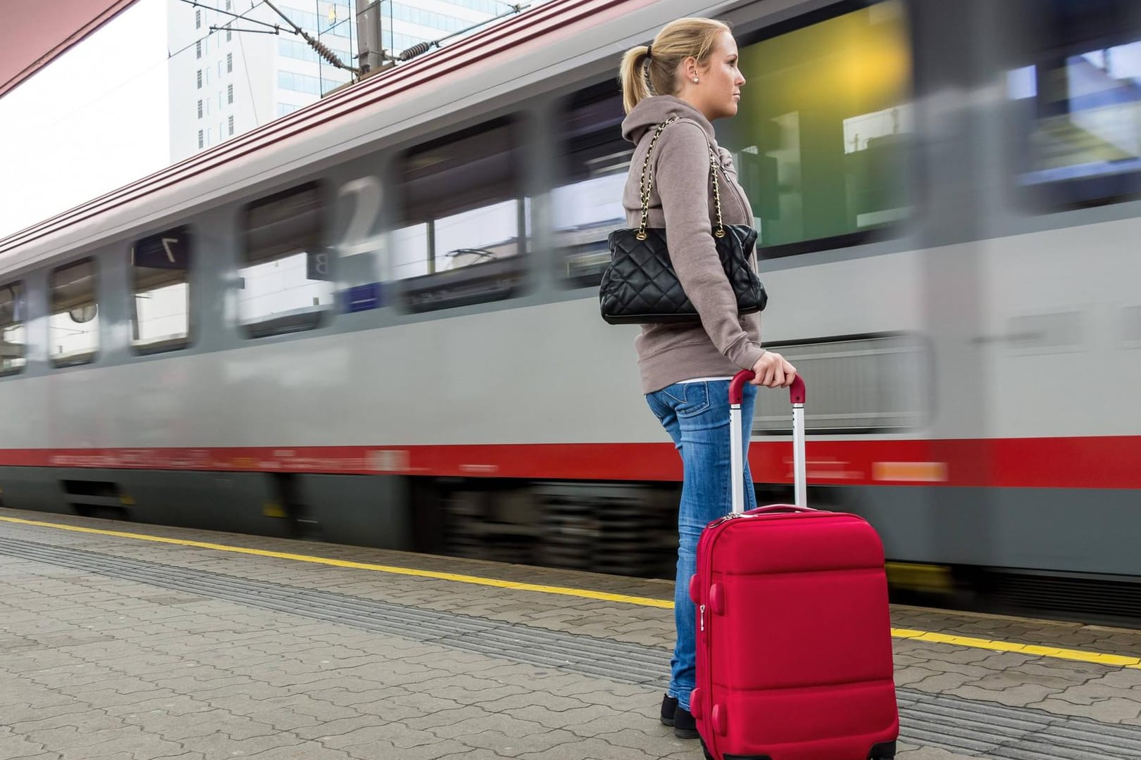
[[[646,325],[636,341],[642,392],[681,453],[685,481],[678,514],[678,577],[674,590],[677,644],[662,722],[682,738],[697,738],[689,712],[695,678],[696,616],[689,600],[697,539],[702,529],[733,510],[729,481],[729,379],[741,369],[756,373],[742,403],[747,447],[755,385],[786,387],[796,370],[780,354],[761,348],[760,316],[739,316],[733,288],[714,247],[717,209],[710,180],[710,148],[720,156],[719,185],[726,224],[752,224],[753,213],[736,181],[729,152],[718,147],[713,120],[734,116],[745,77],[737,68],[737,43],[729,26],[707,18],[667,24],[650,46],[622,59],[626,119],[622,134],[633,142],[623,194],[626,221],[641,216],[639,180],[658,124],[672,116],[654,146],[649,227],[664,227],[670,258],[701,324]],[[755,267],[755,258],[753,260]],[[745,459],[746,509],[755,505]]]

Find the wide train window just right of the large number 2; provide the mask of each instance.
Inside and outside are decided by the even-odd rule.
[[[400,157],[393,277],[408,310],[496,301],[521,288],[531,219],[523,136],[520,124],[501,120]]]

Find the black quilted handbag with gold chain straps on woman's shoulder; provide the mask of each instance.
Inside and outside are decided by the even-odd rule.
[[[610,264],[602,272],[599,288],[599,304],[602,319],[610,325],[646,325],[663,322],[698,322],[697,310],[689,302],[678,281],[678,275],[670,263],[665,230],[647,228],[649,219],[649,196],[654,186],[649,171],[654,144],[662,131],[677,121],[677,116],[659,124],[650,139],[642,163],[641,193],[642,214],[638,229],[621,229],[610,232]],[[713,178],[713,199],[717,205],[717,229],[713,242],[725,268],[726,277],[737,296],[737,310],[747,314],[764,309],[768,296],[764,286],[753,270],[748,254],[756,243],[756,230],[747,224],[721,223],[721,193],[717,179],[718,161],[710,146],[710,174]]]

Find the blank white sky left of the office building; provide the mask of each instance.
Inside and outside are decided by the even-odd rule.
[[[167,5],[139,0],[0,98],[0,238],[162,169],[169,133]]]

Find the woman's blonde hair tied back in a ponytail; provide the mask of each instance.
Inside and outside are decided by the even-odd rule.
[[[639,44],[626,50],[618,70],[626,113],[653,95],[677,92],[681,62],[693,57],[698,66],[704,66],[721,32],[731,31],[726,22],[712,18],[679,18],[663,26],[649,47]],[[647,52],[650,52],[648,66]]]

